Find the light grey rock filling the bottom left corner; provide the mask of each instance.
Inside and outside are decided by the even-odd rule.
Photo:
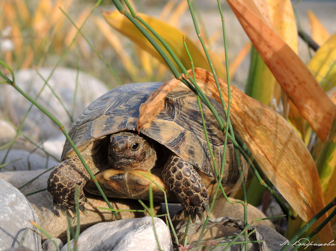
[[[40,251],[41,236],[36,233],[39,232],[38,229],[29,222],[39,224],[38,216],[25,196],[2,179],[0,179],[0,205],[0,247],[4,249],[18,247],[24,239],[25,247]]]

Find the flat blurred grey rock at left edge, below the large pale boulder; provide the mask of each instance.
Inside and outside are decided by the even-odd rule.
[[[6,153],[7,150],[0,151],[0,162],[3,160]],[[11,163],[1,168],[0,171],[39,170],[56,166],[59,163],[52,158],[47,160],[39,154],[16,149],[9,151],[5,163],[9,162]]]

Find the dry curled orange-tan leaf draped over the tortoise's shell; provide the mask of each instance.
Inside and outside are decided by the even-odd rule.
[[[189,74],[192,74],[189,70]],[[195,68],[197,84],[203,92],[220,102],[213,75]],[[227,83],[218,79],[223,96],[227,97]],[[176,87],[175,87],[176,86]],[[161,110],[161,101],[171,90],[186,89],[173,78],[158,88],[140,111],[154,118]],[[188,90],[188,89],[187,89]],[[304,220],[309,220],[323,207],[318,172],[303,141],[287,121],[271,108],[231,86],[230,119],[242,135],[267,178]],[[147,118],[149,118],[147,117]],[[144,123],[149,122],[146,119]],[[139,127],[141,125],[138,124]],[[138,128],[139,129],[139,128]]]

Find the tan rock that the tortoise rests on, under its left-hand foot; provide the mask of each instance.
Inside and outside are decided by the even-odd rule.
[[[11,183],[15,187],[20,187],[33,178],[37,177],[39,174],[43,173],[44,170],[36,171],[11,171],[11,172],[1,172],[0,179],[4,179],[7,182]],[[47,179],[49,178],[50,171],[42,174],[40,177],[35,179],[33,182],[29,183],[27,186],[20,189],[20,191],[27,195],[32,192],[46,189]],[[101,196],[95,196],[87,194],[89,202],[85,204],[88,215],[80,215],[81,230],[104,221],[113,221],[116,220],[115,216],[107,210],[97,209],[92,207],[107,207],[106,202],[102,199]],[[60,207],[57,206],[56,210],[53,209],[52,197],[47,191],[42,191],[36,194],[27,196],[28,201],[32,205],[33,209],[37,213],[40,225],[45,229],[52,237],[60,239],[63,243],[67,241],[67,227],[68,221],[66,216],[61,214]],[[142,209],[143,207],[136,200],[125,200],[125,199],[116,199],[110,198],[109,201],[113,208],[116,209]],[[155,204],[154,214],[157,214],[157,210],[160,209],[160,204]],[[139,218],[148,216],[148,213],[143,212],[120,212],[118,213],[121,219],[128,218]],[[77,221],[73,223],[76,225]],[[42,235],[42,239],[46,239],[45,235]]]

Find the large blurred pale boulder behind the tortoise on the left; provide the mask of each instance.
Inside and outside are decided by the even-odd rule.
[[[52,68],[38,69],[44,79],[49,77],[51,70]],[[77,70],[75,69],[58,67],[48,81],[48,85],[62,100],[69,114],[72,113],[73,108],[76,74]],[[32,98],[35,98],[40,93],[44,85],[44,80],[42,80],[34,69],[16,72],[15,82],[18,87],[23,89]],[[79,114],[92,101],[107,91],[108,88],[103,82],[85,72],[80,72],[73,119],[76,120]],[[0,93],[0,110],[5,111],[6,109],[6,113],[9,114],[10,119],[19,122],[22,121],[28,108],[31,106],[31,102],[12,86],[0,85]],[[69,128],[71,124],[70,117],[48,86],[45,86],[37,102],[54,115],[64,125],[66,130]],[[13,112],[12,108],[14,108],[15,112]],[[35,136],[43,139],[62,134],[59,127],[35,106],[28,114],[23,131],[25,133],[37,133]]]

